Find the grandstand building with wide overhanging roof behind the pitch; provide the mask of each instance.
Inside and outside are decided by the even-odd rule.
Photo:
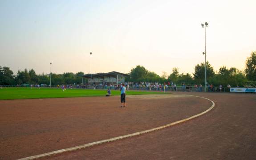
[[[94,84],[121,84],[125,82],[125,77],[129,77],[129,75],[112,71],[108,73],[92,74],[92,79],[91,74],[84,74],[83,77],[88,78],[88,82],[93,82]]]

